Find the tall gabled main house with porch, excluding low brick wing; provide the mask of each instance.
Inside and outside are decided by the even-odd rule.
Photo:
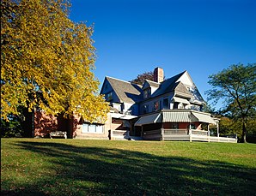
[[[115,110],[113,119],[124,125],[125,137],[236,142],[219,137],[218,119],[202,111],[204,98],[187,71],[164,80],[163,69],[155,68],[154,81],[145,80],[142,86],[107,76],[101,94]],[[210,136],[210,125],[216,126],[216,137]],[[113,138],[115,132],[110,130]]]

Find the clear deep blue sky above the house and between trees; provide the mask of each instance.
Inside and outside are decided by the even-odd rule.
[[[256,62],[255,0],[71,0],[70,20],[94,25],[95,77],[132,80],[187,70],[204,92],[208,76]],[[101,88],[101,86],[100,86]]]

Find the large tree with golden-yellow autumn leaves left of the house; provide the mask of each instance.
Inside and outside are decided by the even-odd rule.
[[[65,0],[1,1],[1,117],[19,107],[106,120],[94,73],[93,27],[68,18]]]

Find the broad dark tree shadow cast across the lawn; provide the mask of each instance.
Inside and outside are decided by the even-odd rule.
[[[43,156],[49,173],[2,195],[255,194],[255,169],[234,164],[51,142],[19,146]]]

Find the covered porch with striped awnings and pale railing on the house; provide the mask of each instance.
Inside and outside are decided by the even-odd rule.
[[[203,123],[207,130],[203,130]],[[210,136],[210,124],[216,126],[216,136]],[[237,138],[220,137],[218,119],[196,110],[161,110],[140,117],[135,126],[141,128],[143,140],[237,142]]]

